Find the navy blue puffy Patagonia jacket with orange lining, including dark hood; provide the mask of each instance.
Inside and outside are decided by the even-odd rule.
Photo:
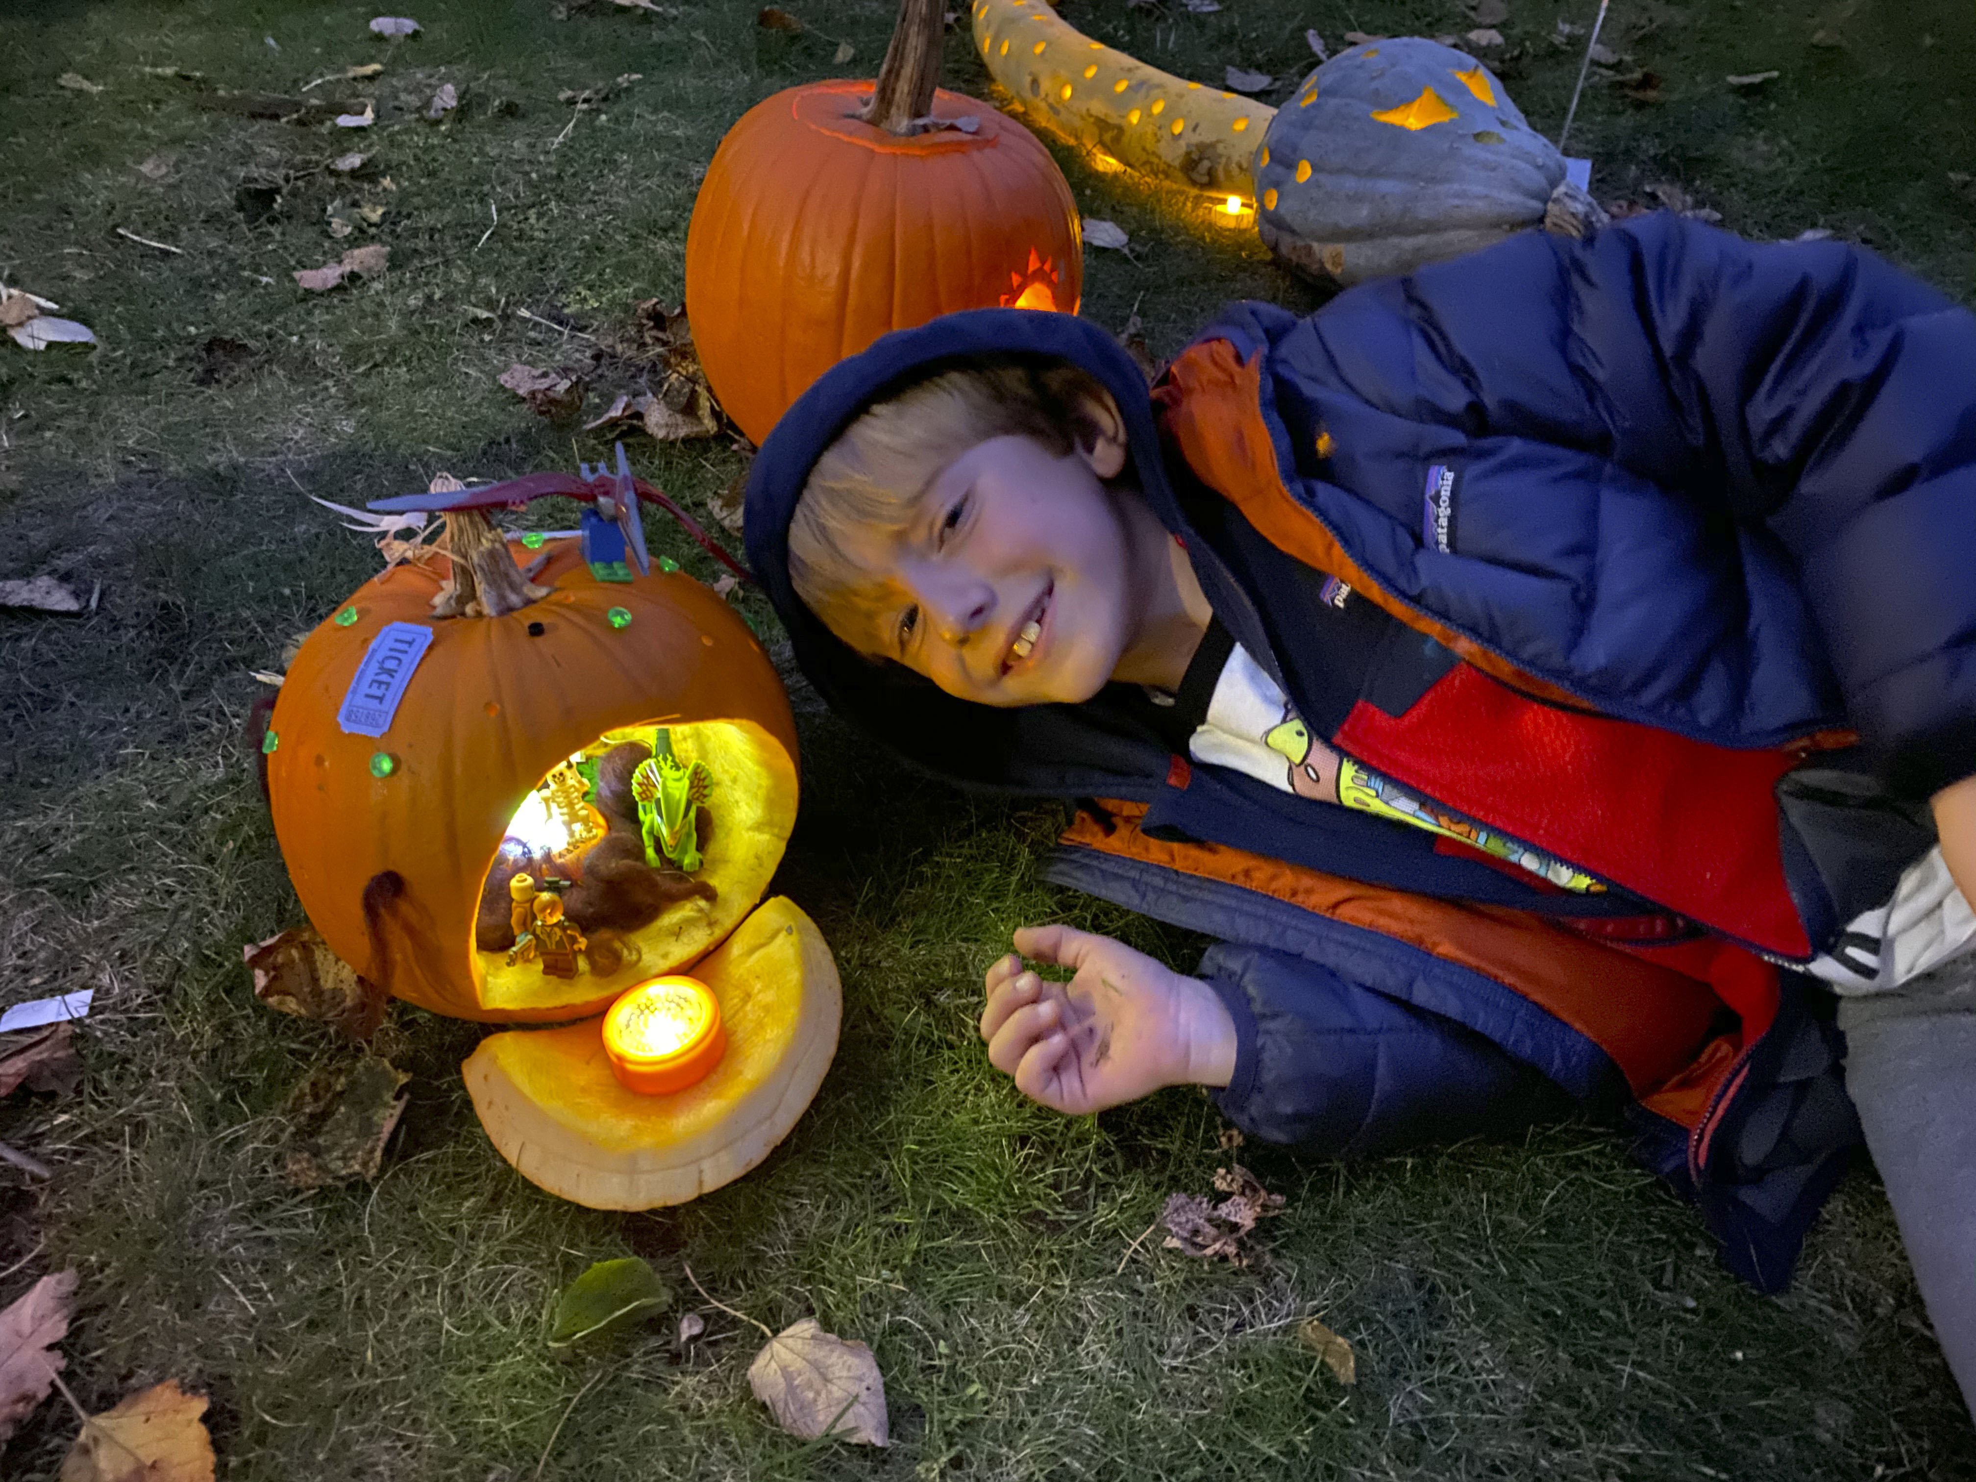
[[[1796,947],[1701,931],[1652,877],[1559,897],[1421,830],[1180,765],[1111,692],[986,709],[852,654],[788,585],[808,470],[887,387],[984,354],[1105,381],[1217,618],[1320,733],[1403,715],[1452,674],[1670,745],[1804,749],[1767,814]],[[1976,773],[1972,464],[1968,310],[1846,245],[1656,215],[1587,243],[1525,233],[1308,318],[1239,304],[1154,399],[1067,316],[887,336],[771,435],[747,545],[854,723],[972,786],[1105,800],[1051,873],[1221,939],[1199,972],[1237,1022],[1217,1097],[1235,1122],[1350,1154],[1529,1114],[1551,1089],[1626,1105],[1642,1156],[1769,1290],[1857,1134],[1818,1000],[1733,943],[1830,947],[1927,846],[1919,800]],[[1324,577],[1405,628],[1344,690],[1310,658]],[[1820,751],[1834,731],[1859,745]],[[1834,755],[1840,781],[1804,786]]]

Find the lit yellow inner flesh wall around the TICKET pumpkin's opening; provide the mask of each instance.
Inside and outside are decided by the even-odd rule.
[[[658,721],[613,729],[607,741],[650,745]],[[642,952],[611,976],[601,976],[585,960],[575,978],[557,978],[541,962],[508,962],[506,952],[476,950],[468,939],[474,990],[480,1004],[502,1014],[557,1010],[571,1002],[617,996],[646,978],[676,972],[725,937],[761,899],[782,860],[782,844],[796,822],[794,769],[781,743],[749,721],[666,723],[672,755],[682,765],[705,763],[713,790],[705,808],[713,818],[711,840],[701,850],[694,879],[713,885],[713,901],[688,899],[666,907],[658,919],[626,931]],[[589,749],[589,747],[587,747]],[[494,862],[488,862],[488,869]],[[482,871],[482,879],[486,877]],[[535,871],[539,875],[539,871]]]

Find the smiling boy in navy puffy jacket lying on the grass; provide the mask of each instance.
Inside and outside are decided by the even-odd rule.
[[[1976,1397],[1968,310],[1656,215],[1239,304],[1150,399],[954,314],[790,409],[747,543],[838,711],[1219,939],[1020,931],[1026,1095],[1340,1156],[1622,1107],[1763,1290],[1863,1122]]]

